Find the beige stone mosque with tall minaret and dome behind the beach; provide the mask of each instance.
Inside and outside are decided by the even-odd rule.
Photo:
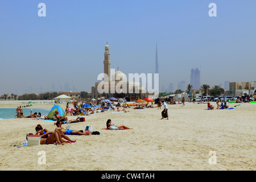
[[[146,86],[141,86],[139,82],[127,81],[127,76],[119,71],[119,68],[115,72],[113,72],[114,69],[110,69],[111,62],[108,42],[105,46],[103,63],[104,73],[99,75],[102,81],[95,82],[95,86],[92,86],[92,98],[126,97],[130,100],[135,100],[137,97],[146,97]]]

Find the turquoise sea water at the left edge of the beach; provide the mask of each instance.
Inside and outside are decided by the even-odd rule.
[[[23,108],[22,107],[22,110],[23,110],[23,115],[24,116],[28,116],[30,115],[30,111],[31,111],[31,108]],[[32,113],[41,113],[41,115],[48,115],[49,114],[49,111],[51,109],[32,109]],[[16,118],[15,115],[16,115],[16,108],[0,108],[0,119],[12,119],[12,118]]]

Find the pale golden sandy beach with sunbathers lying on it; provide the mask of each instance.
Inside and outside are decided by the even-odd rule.
[[[0,107],[18,105],[15,101],[0,102]],[[53,105],[34,103],[31,109],[51,109]],[[216,103],[212,105],[216,107]],[[60,106],[64,109],[65,103]],[[3,119],[0,120],[0,170],[255,170],[256,104],[242,103],[229,110],[205,109],[207,104],[168,105],[169,120],[160,120],[163,107],[94,113],[85,116],[85,122],[69,126],[73,130],[92,126],[100,135],[69,135],[77,142],[64,146],[10,146],[22,145],[26,134],[35,133],[39,123],[48,130],[56,126],[43,119]],[[68,119],[75,118],[68,116]],[[115,125],[133,129],[104,130],[108,119]],[[38,162],[40,151],[46,154],[46,164]],[[212,154],[216,154],[216,164],[209,163]]]

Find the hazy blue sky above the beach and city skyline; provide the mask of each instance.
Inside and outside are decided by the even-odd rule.
[[[38,16],[45,3],[46,16]],[[210,3],[217,16],[210,17]],[[154,73],[160,85],[256,80],[255,0],[0,1],[0,95],[64,90],[91,92],[104,70]],[[54,87],[53,87],[54,86]]]

